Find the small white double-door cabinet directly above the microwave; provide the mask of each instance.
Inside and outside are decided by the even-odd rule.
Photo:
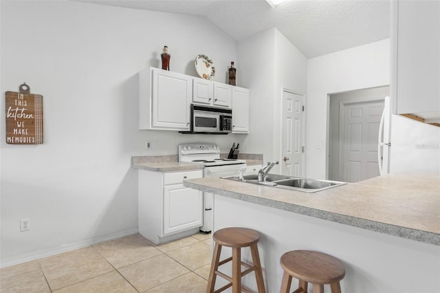
[[[218,107],[231,107],[232,86],[212,80],[192,80],[192,102]]]

